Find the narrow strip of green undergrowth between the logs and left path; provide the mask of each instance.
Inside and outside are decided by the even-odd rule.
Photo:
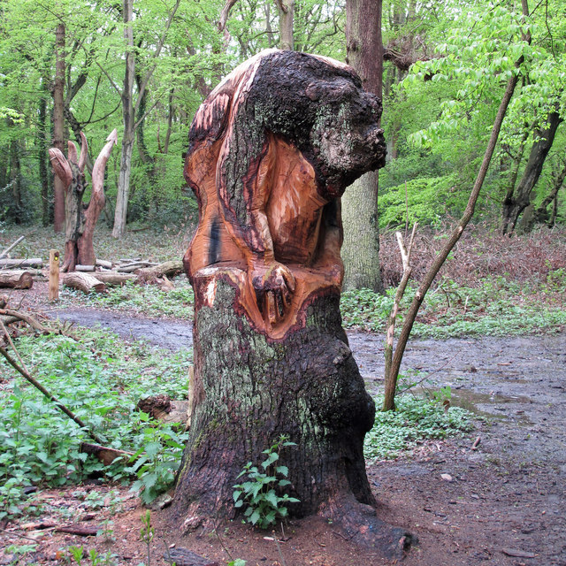
[[[108,287],[105,294],[84,294],[64,287],[60,294],[61,305],[122,310],[146,317],[190,319],[195,302],[193,288],[184,275],[174,279],[174,283],[174,289],[162,291],[157,285],[138,285],[128,281],[124,287]]]

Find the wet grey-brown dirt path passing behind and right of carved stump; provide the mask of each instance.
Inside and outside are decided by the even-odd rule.
[[[101,310],[65,310],[58,316],[162,347],[192,344],[189,323]],[[348,337],[363,378],[375,391],[382,375],[382,337],[356,332]],[[566,565],[566,334],[414,340],[402,368],[411,370],[429,373],[432,386],[451,386],[453,403],[487,419],[468,438],[428,444],[410,458],[368,467],[383,504],[380,515],[420,539],[404,563]],[[471,450],[478,436],[478,449]],[[332,544],[325,545],[332,556]],[[342,564],[354,566],[356,560]]]

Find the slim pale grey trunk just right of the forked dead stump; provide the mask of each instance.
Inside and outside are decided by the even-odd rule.
[[[114,212],[114,228],[112,236],[121,238],[126,233],[127,203],[130,194],[130,174],[132,172],[132,154],[134,152],[134,0],[124,0],[124,39],[126,40],[126,74],[122,89],[122,119],[124,121],[124,137],[122,138],[122,155],[120,157],[120,174],[116,210]]]

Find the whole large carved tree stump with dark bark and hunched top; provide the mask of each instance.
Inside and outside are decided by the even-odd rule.
[[[237,67],[196,113],[195,375],[172,506],[185,530],[233,517],[239,472],[286,434],[291,515],[332,518],[387,555],[409,544],[375,516],[363,460],[375,407],[339,305],[340,195],[385,164],[380,114],[348,65],[279,50]]]

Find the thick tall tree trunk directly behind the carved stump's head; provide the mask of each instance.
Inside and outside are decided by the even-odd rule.
[[[346,50],[348,63],[360,75],[363,88],[381,98],[381,0],[348,0]],[[378,172],[366,173],[342,196],[345,287],[383,290],[379,272],[378,182]]]

